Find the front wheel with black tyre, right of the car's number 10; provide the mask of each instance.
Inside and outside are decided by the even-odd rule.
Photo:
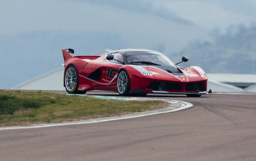
[[[130,92],[130,78],[126,70],[121,70],[117,76],[117,90],[122,96],[128,95]]]

